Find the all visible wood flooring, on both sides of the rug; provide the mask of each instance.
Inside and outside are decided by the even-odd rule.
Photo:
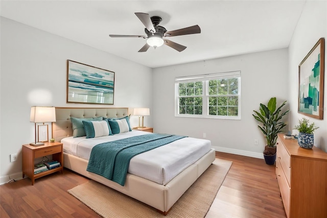
[[[275,167],[264,160],[216,152],[233,161],[206,218],[286,217]],[[37,179],[0,186],[0,217],[100,217],[67,192],[88,179],[64,169]]]

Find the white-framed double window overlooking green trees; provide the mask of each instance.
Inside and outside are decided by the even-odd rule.
[[[241,72],[175,78],[175,116],[241,119]]]

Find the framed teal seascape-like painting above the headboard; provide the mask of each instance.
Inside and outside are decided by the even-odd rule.
[[[67,60],[67,103],[113,104],[114,72]]]

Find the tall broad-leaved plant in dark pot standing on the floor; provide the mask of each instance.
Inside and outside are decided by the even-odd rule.
[[[253,111],[252,116],[261,122],[262,126],[258,125],[258,128],[264,134],[267,145],[264,150],[265,161],[269,165],[273,165],[276,160],[276,142],[277,134],[282,132],[282,129],[286,126],[285,122],[281,119],[289,112],[282,113],[282,107],[286,104],[284,101],[281,106],[276,108],[276,97],[270,98],[267,105],[260,103],[260,112]]]

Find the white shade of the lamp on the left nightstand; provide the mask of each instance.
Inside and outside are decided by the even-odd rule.
[[[30,122],[45,123],[56,122],[56,108],[55,107],[31,107]]]

